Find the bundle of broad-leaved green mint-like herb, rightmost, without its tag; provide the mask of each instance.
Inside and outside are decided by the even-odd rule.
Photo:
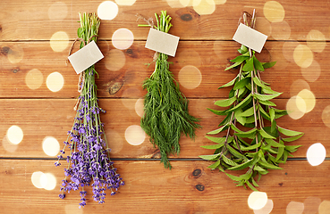
[[[244,24],[248,25],[248,16],[244,12]],[[255,25],[255,15],[250,19],[250,28]],[[279,127],[276,119],[287,112],[275,108],[271,100],[282,93],[275,92],[269,84],[262,81],[260,73],[271,68],[275,62],[259,62],[254,51],[241,45],[241,55],[231,60],[233,65],[225,70],[239,68],[238,75],[224,86],[232,86],[229,98],[216,101],[216,105],[226,110],[211,110],[224,116],[220,128],[207,133],[216,135],[225,132],[225,136],[207,136],[216,144],[202,146],[216,149],[214,154],[201,155],[200,158],[216,161],[209,169],[219,169],[233,179],[237,186],[248,185],[257,191],[256,178],[266,175],[269,169],[281,169],[279,163],[285,163],[300,145],[286,145],[299,139],[303,133]],[[268,125],[268,126],[267,126]],[[245,128],[243,128],[245,127]],[[242,131],[243,129],[244,131]],[[227,170],[244,170],[241,176],[233,176]]]

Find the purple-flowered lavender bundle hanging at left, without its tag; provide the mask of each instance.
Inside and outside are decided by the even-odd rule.
[[[78,37],[81,41],[80,48],[90,41],[97,42],[97,32],[100,21],[95,13],[83,13],[80,15],[80,28]],[[95,76],[98,76],[94,65],[80,73],[80,96],[75,106],[77,111],[72,130],[68,132],[68,138],[55,166],[61,165],[65,149],[70,150],[66,159],[68,168],[64,169],[65,178],[61,186],[60,198],[65,197],[65,192],[80,191],[80,207],[86,205],[85,186],[92,186],[94,201],[103,203],[106,197],[106,189],[115,193],[123,180],[117,174],[114,163],[110,160],[110,148],[106,141],[104,124],[100,119],[102,110],[97,104],[97,86]],[[69,138],[71,137],[71,140]],[[70,178],[70,179],[69,179]]]

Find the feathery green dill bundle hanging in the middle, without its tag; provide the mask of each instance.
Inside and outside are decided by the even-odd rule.
[[[172,24],[171,17],[162,11],[157,26],[139,25],[155,28],[168,33]],[[188,100],[182,95],[179,84],[169,70],[168,56],[156,53],[155,71],[144,81],[143,89],[148,93],[144,99],[144,115],[140,121],[141,128],[150,136],[150,142],[157,145],[161,154],[161,162],[165,168],[172,166],[167,155],[180,152],[179,140],[184,133],[190,138],[195,137],[196,128],[200,128],[199,119],[191,116],[188,111]]]

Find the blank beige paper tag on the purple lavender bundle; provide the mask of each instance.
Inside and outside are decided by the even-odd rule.
[[[90,66],[103,58],[103,54],[98,49],[97,44],[91,41],[88,45],[82,47],[76,53],[72,53],[68,59],[77,74],[87,70]]]

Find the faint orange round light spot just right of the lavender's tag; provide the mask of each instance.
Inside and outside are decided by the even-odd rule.
[[[123,51],[112,49],[107,53],[105,59],[106,69],[108,70],[121,70],[126,62],[126,56]]]

